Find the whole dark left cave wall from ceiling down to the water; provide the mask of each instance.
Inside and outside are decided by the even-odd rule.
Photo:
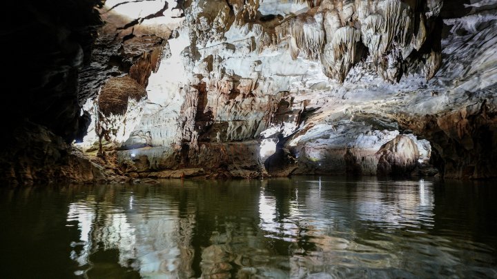
[[[78,103],[79,68],[91,61],[102,22],[101,1],[11,1],[5,3],[2,38],[6,90],[1,94],[4,132],[0,180],[32,183],[64,179],[68,143],[88,128]],[[74,160],[73,160],[74,159]],[[88,168],[90,170],[91,168]],[[76,177],[75,177],[76,178]],[[91,180],[92,174],[77,174]]]

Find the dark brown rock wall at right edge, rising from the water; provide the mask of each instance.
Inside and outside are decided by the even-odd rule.
[[[495,106],[483,101],[405,125],[427,136],[445,178],[483,179],[497,176],[496,121]]]

